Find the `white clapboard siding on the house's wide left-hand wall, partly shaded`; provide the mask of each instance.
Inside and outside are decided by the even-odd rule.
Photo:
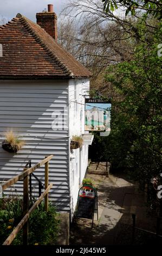
[[[1,81],[0,82],[0,143],[8,128],[22,139],[25,145],[17,154],[0,148],[0,180],[8,180],[22,172],[31,159],[32,166],[53,154],[49,163],[49,193],[57,210],[69,211],[69,131],[52,130],[53,112],[61,112],[63,125],[68,126],[68,81]],[[44,181],[44,167],[35,174]],[[38,184],[33,179],[35,195]],[[22,193],[22,182],[12,186]],[[5,193],[14,193],[13,191]]]

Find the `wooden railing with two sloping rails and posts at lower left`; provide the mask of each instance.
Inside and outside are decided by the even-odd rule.
[[[23,218],[18,223],[17,227],[12,231],[12,233],[8,236],[8,238],[4,241],[3,245],[10,245],[11,242],[15,239],[18,232],[23,228],[23,245],[28,244],[28,231],[29,231],[29,217],[31,212],[33,212],[37,206],[42,202],[44,198],[44,206],[45,210],[48,211],[48,192],[53,184],[48,184],[48,169],[49,169],[49,161],[52,159],[53,155],[45,157],[40,163],[35,164],[35,166],[30,168],[24,168],[24,172],[18,174],[14,178],[5,181],[1,184],[2,191],[6,190],[8,187],[14,185],[17,181],[23,179]],[[43,166],[45,164],[45,191],[41,194],[41,196],[36,200],[34,205],[29,209],[29,174],[33,173],[34,170]]]

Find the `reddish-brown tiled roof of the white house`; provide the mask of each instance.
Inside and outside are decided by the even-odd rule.
[[[0,78],[89,77],[90,72],[21,14],[0,26]]]

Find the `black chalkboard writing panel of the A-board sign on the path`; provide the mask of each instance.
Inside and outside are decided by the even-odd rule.
[[[95,198],[80,197],[78,200],[77,217],[92,220]]]

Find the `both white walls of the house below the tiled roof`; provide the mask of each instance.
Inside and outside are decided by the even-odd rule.
[[[17,154],[7,153],[0,147],[0,182],[21,173],[29,159],[33,166],[44,156],[53,154],[49,182],[54,185],[49,195],[57,210],[70,211],[72,208],[73,215],[79,185],[87,169],[88,146],[74,150],[75,159],[69,161],[68,136],[79,136],[85,131],[85,98],[82,95],[88,89],[88,79],[0,81],[0,144],[8,129],[26,142]],[[75,99],[83,105],[73,102]],[[51,125],[57,112],[66,128],[53,130]],[[44,181],[44,167],[37,169],[35,174]],[[37,195],[37,183],[34,187]],[[15,189],[22,193],[22,182],[12,188],[13,193]]]

